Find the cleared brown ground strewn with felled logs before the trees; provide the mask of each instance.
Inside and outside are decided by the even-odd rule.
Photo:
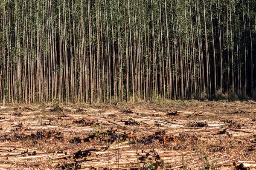
[[[255,117],[253,100],[1,107],[0,170],[253,169]]]

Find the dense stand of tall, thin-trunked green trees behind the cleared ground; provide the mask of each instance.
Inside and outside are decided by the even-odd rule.
[[[0,0],[12,103],[253,96],[255,0]]]

